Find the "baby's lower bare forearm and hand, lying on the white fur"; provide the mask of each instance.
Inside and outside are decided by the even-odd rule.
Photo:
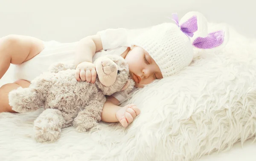
[[[107,96],[101,118],[104,122],[119,121],[123,127],[127,127],[140,114],[140,109],[134,104],[120,107],[119,103],[113,96]]]

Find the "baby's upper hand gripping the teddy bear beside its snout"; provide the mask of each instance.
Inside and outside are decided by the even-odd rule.
[[[91,62],[81,62],[76,67],[76,80],[94,83],[97,76],[95,65]]]

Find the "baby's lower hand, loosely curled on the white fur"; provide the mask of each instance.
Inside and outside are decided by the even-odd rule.
[[[123,127],[127,127],[140,114],[140,109],[134,105],[126,105],[116,112],[116,119],[122,124]]]

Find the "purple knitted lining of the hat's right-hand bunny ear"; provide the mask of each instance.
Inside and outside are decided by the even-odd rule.
[[[216,31],[208,34],[207,37],[197,37],[192,44],[201,49],[215,48],[224,42],[224,37],[224,31]]]

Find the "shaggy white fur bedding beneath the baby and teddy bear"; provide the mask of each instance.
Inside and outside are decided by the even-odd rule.
[[[256,133],[256,40],[230,29],[223,51],[133,94],[141,108],[128,128],[101,123],[90,133],[64,129],[56,143],[36,143],[40,111],[0,114],[1,161],[190,161]]]

